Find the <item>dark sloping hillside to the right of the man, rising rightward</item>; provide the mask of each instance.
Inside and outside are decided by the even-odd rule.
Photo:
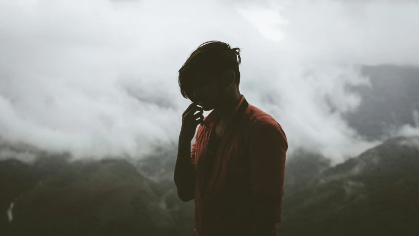
[[[281,235],[419,235],[419,137],[390,139],[328,168],[283,201]]]

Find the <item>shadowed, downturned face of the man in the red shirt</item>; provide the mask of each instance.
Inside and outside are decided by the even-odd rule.
[[[196,78],[194,86],[193,102],[200,102],[199,105],[204,111],[211,111],[216,108],[222,94],[222,88],[217,77]]]

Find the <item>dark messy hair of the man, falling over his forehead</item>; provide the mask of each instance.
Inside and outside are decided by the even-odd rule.
[[[199,45],[179,69],[178,83],[184,98],[191,99],[198,75],[219,76],[226,70],[235,74],[237,87],[240,84],[240,48],[231,48],[228,43],[207,41]]]

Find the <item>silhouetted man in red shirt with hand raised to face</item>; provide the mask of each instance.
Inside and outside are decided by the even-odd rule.
[[[288,143],[279,123],[240,93],[240,62],[239,48],[208,41],[179,70],[193,103],[183,113],[174,181],[182,201],[195,200],[194,236],[278,236]],[[213,111],[204,118],[203,110]]]

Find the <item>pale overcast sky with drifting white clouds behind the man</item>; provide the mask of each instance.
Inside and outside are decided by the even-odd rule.
[[[176,142],[177,71],[221,40],[242,49],[240,91],[288,153],[342,161],[376,144],[341,118],[362,102],[345,86],[368,85],[359,65],[419,65],[419,4],[397,2],[0,0],[0,136],[76,156]]]

